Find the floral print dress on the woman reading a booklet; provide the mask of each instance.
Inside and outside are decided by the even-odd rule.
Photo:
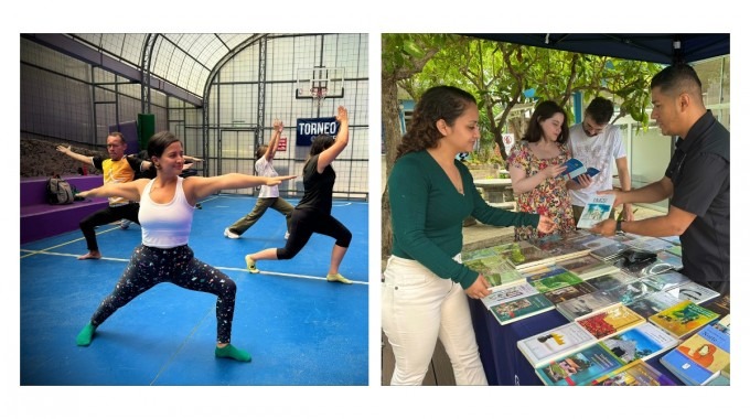
[[[567,146],[559,146],[560,153],[551,159],[539,159],[528,148],[527,141],[519,141],[507,157],[508,166],[522,168],[526,176],[533,176],[549,165],[562,164],[570,159]],[[536,187],[522,194],[516,194],[518,212],[546,215],[553,219],[557,228],[553,234],[564,234],[576,229],[576,218],[572,215],[572,204],[566,180],[562,176],[545,179]],[[546,236],[535,227],[515,227],[516,240],[528,240]]]

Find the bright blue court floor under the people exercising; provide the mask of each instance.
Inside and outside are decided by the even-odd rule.
[[[297,200],[290,200],[292,205]],[[367,203],[334,201],[333,216],[353,234],[341,273],[354,284],[325,281],[330,237],[313,235],[291,260],[244,256],[282,247],[283,216],[269,210],[239,239],[224,228],[248,213],[254,197],[216,195],[196,210],[190,247],[195,257],[237,283],[232,343],[251,363],[214,357],[216,298],[161,283],[101,324],[92,345],[78,331],[111,291],[140,243],[140,226],[97,229],[103,259],[79,230],[21,246],[20,384],[22,386],[366,386],[368,384]]]

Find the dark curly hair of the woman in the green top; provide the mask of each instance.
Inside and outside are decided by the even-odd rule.
[[[458,87],[435,86],[427,89],[414,109],[411,123],[398,144],[396,160],[404,154],[436,147],[443,137],[436,123],[442,119],[452,127],[469,104],[476,105],[476,99]]]

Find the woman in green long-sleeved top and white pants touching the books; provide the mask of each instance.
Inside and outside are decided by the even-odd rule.
[[[468,300],[490,294],[484,277],[461,264],[463,219],[536,226],[551,232],[546,216],[488,205],[456,154],[479,140],[476,100],[450,86],[428,89],[398,146],[388,179],[393,255],[382,284],[383,331],[396,356],[392,385],[422,383],[438,339],[451,358],[458,384],[486,385]]]

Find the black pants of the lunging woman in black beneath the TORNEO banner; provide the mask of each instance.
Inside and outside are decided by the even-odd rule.
[[[276,249],[276,257],[279,260],[293,258],[308,244],[313,233],[335,238],[336,246],[349,247],[352,243],[352,233],[331,214],[311,208],[294,208],[287,246]]]

